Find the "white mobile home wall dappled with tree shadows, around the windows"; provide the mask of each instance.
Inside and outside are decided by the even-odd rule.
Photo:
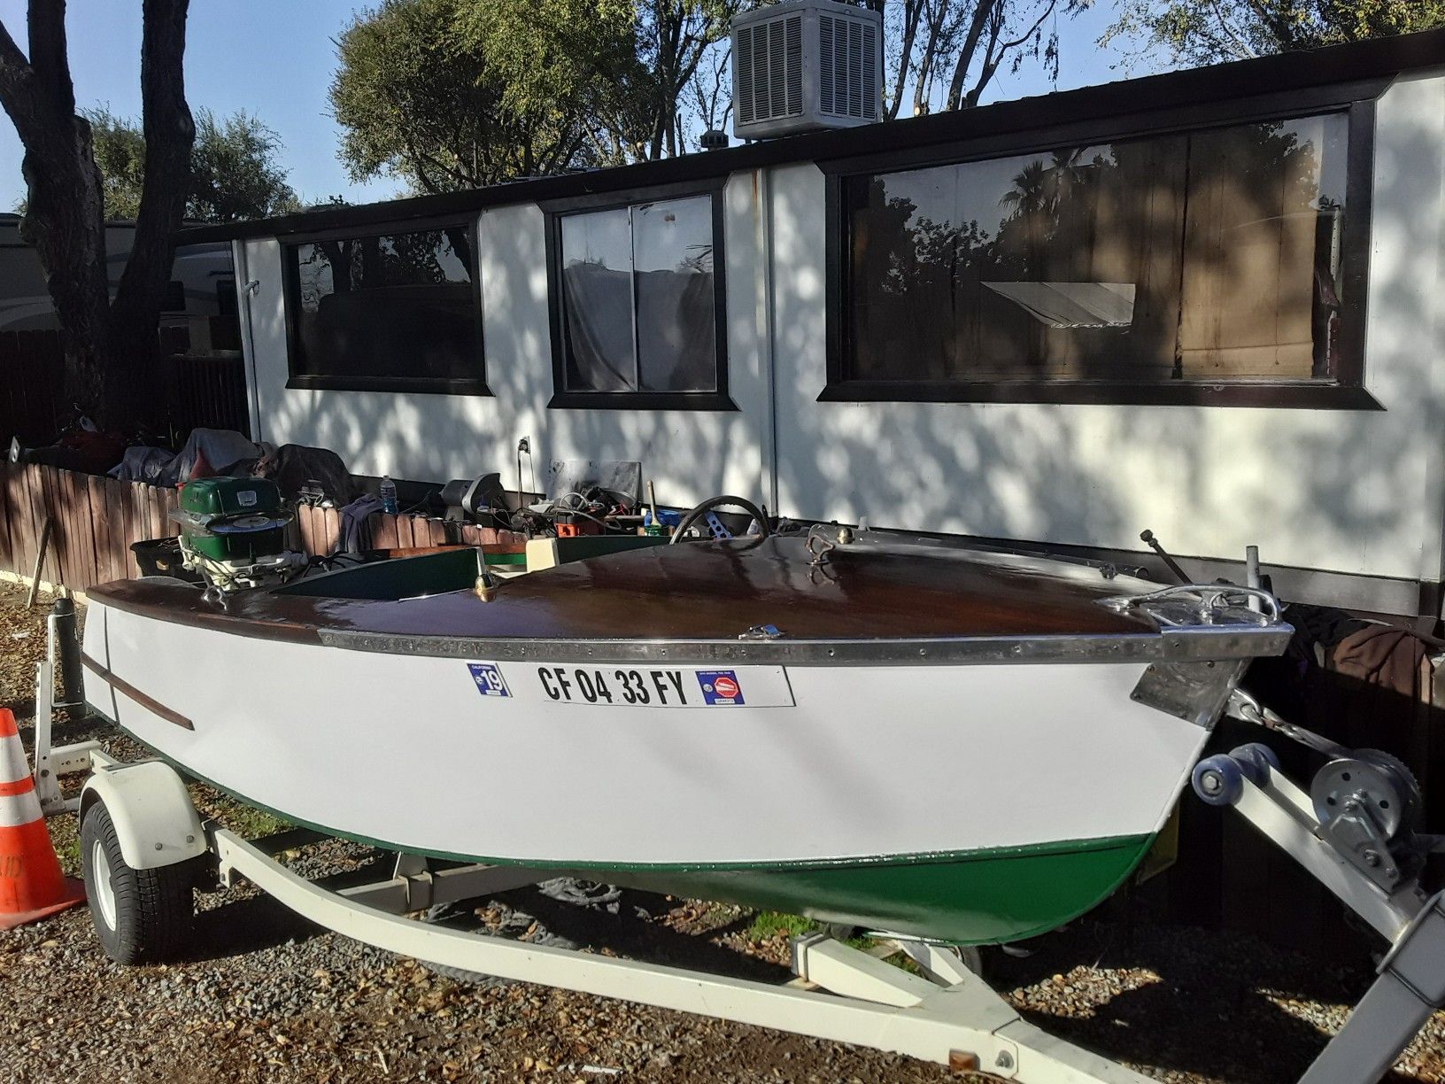
[[[1381,410],[818,402],[825,374],[825,178],[733,173],[725,194],[736,413],[549,409],[545,218],[478,215],[491,397],[288,389],[282,249],[237,241],[253,432],[334,448],[351,470],[445,480],[549,460],[637,458],[665,504],[715,493],[780,515],[1140,549],[1399,581],[1363,608],[1415,613],[1445,578],[1445,69],[1376,103],[1366,387]]]

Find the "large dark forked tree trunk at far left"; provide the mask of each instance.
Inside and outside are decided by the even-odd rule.
[[[140,367],[156,351],[172,236],[186,199],[195,124],[185,103],[188,0],[143,0],[140,100],[146,185],[136,234],[110,301],[104,181],[91,123],[75,110],[64,0],[30,0],[29,55],[0,22],[0,107],[16,127],[29,188],[22,236],[35,246],[61,321],[65,386],[104,426],[140,415]]]

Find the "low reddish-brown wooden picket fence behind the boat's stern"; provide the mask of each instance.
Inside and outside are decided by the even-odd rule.
[[[94,474],[39,464],[0,467],[0,569],[29,577],[36,551],[51,519],[51,542],[40,578],[84,591],[110,580],[140,575],[133,542],[176,533],[171,512],[179,506],[173,489],[116,481]],[[491,528],[444,523],[428,516],[371,519],[377,549],[409,549],[447,543],[484,545],[522,541],[520,535]],[[337,509],[301,506],[293,545],[312,555],[329,554],[341,536]]]

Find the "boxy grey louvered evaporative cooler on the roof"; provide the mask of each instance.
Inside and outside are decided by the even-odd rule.
[[[733,22],[733,134],[782,136],[879,120],[883,16],[795,0]]]

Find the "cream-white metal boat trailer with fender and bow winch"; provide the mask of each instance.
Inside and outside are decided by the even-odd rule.
[[[396,854],[390,876],[327,887],[298,876],[276,857],[327,838],[322,834],[298,828],[247,841],[202,821],[185,780],[163,762],[123,763],[94,741],[52,747],[51,665],[40,663],[38,676],[36,786],[46,815],[78,811],[84,824],[100,811],[116,828],[118,857],[104,870],[105,877],[95,877],[97,863],[104,861],[101,851],[91,856],[82,848],[82,860],[90,860],[87,879],[97,882],[92,915],[107,945],[113,942],[107,934],[116,931],[101,931],[103,922],[114,926],[137,918],[158,945],[169,944],[156,915],[117,912],[118,893],[111,889],[116,876],[172,877],[189,899],[199,861],[210,863],[221,887],[250,882],[316,925],[447,968],[870,1046],[1003,1080],[1033,1084],[1147,1080],[1029,1023],[965,965],[958,950],[945,945],[880,935],[879,945],[864,951],[825,934],[809,934],[795,938],[792,945],[796,977],[769,984],[406,918],[432,906],[535,885],[556,872],[454,866]],[[1266,710],[1243,695],[1231,701],[1230,713],[1282,728],[1282,720],[1270,720]],[[1194,773],[1195,791],[1204,801],[1234,806],[1390,941],[1377,980],[1302,1084],[1379,1080],[1429,1016],[1445,1006],[1445,892],[1425,898],[1415,877],[1419,863],[1412,857],[1422,844],[1399,831],[1406,821],[1386,817],[1381,824],[1376,817],[1381,785],[1413,786],[1413,780],[1407,773],[1405,779],[1392,773],[1389,766],[1377,766],[1373,775],[1367,773],[1368,779],[1351,779],[1337,763],[1341,759],[1321,770],[1312,791],[1324,786],[1325,798],[1337,801],[1342,795],[1341,805],[1348,806],[1353,818],[1348,824],[1337,822],[1338,817],[1319,817],[1319,804],[1277,770],[1273,753],[1263,744],[1208,757]],[[56,776],[75,770],[88,770],[90,776],[78,798],[64,799]],[[1390,793],[1397,804],[1409,804],[1409,793],[1394,789]],[[1384,802],[1389,806],[1390,799]],[[130,900],[126,906],[152,899],[146,893],[126,898]],[[906,952],[922,974],[884,961],[883,957],[897,951]]]

